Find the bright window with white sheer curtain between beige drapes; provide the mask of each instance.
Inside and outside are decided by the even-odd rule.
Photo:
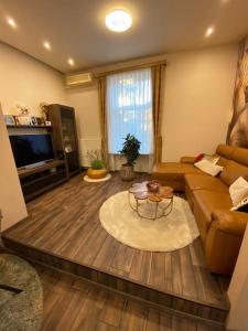
[[[134,135],[140,153],[152,153],[151,70],[125,72],[107,77],[108,148],[118,153],[123,138]]]

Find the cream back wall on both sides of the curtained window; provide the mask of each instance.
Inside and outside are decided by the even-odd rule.
[[[231,116],[238,44],[168,54],[163,103],[163,161],[214,152]],[[82,153],[99,147],[97,86],[68,89],[76,109]],[[88,148],[86,148],[88,146]]]

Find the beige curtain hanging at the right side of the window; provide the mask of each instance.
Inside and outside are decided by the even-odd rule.
[[[153,114],[153,141],[154,163],[162,159],[162,99],[164,86],[164,64],[152,66],[152,114]]]

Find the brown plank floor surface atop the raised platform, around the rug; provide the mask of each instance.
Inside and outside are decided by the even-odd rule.
[[[136,181],[147,178],[141,174]],[[161,291],[222,305],[229,279],[208,273],[200,239],[175,252],[152,253],[122,245],[101,227],[98,211],[103,202],[130,185],[118,173],[97,184],[77,175],[30,202],[30,218],[4,235]]]

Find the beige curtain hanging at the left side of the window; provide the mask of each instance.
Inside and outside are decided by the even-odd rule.
[[[99,99],[99,113],[100,113],[100,132],[101,132],[101,152],[103,158],[108,168],[108,136],[107,136],[107,114],[106,114],[106,94],[107,84],[106,76],[98,78],[98,99]]]

